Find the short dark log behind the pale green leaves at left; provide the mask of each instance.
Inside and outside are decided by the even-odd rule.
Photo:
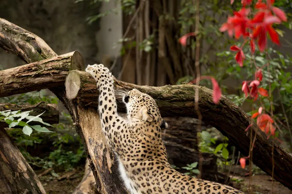
[[[19,106],[17,104],[11,103],[0,103],[0,111],[32,111],[29,114],[32,116],[37,116],[40,113],[43,113],[40,117],[42,120],[49,124],[57,124],[59,123],[59,111],[58,106],[56,104],[47,104],[46,102],[39,102],[35,105],[22,105]],[[34,125],[34,122],[31,122]],[[39,123],[37,124],[39,125]],[[0,122],[0,128],[8,127],[8,124],[5,122]]]

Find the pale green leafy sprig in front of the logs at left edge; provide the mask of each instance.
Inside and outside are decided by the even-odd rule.
[[[40,125],[30,126],[29,123],[32,121],[39,122],[46,126],[51,126],[49,123],[43,122],[43,120],[39,117],[45,112],[40,113],[37,116],[29,115],[30,112],[31,111],[25,111],[25,112],[20,113],[20,110],[19,111],[11,111],[11,110],[1,111],[0,121],[9,124],[9,129],[14,128],[16,126],[22,127],[22,132],[28,136],[31,135],[31,133],[33,132],[33,129],[39,132],[52,132],[46,127],[41,127]],[[24,122],[22,121],[23,119],[27,119],[28,121]]]

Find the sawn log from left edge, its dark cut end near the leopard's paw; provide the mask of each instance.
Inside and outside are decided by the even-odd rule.
[[[0,71],[0,97],[64,85],[68,71],[82,67],[83,57],[74,51]]]

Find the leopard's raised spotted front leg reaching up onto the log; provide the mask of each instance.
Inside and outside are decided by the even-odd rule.
[[[117,113],[113,76],[110,70],[102,64],[88,65],[86,72],[94,78],[100,93],[98,110],[106,139],[114,151],[123,156],[124,147],[127,145],[124,145],[125,142],[122,138],[129,130],[127,121]]]

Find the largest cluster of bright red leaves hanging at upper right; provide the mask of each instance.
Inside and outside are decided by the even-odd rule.
[[[242,9],[238,12],[234,12],[234,16],[229,16],[227,22],[224,23],[220,31],[227,31],[229,36],[235,33],[235,38],[238,39],[241,35],[243,37],[250,37],[250,48],[252,53],[255,52],[257,40],[258,48],[262,52],[267,46],[267,33],[271,40],[279,45],[279,36],[273,28],[273,24],[279,24],[282,21],[287,21],[286,14],[279,8],[274,7],[274,0],[267,0],[267,3],[263,3],[262,0],[258,0],[255,8],[258,9],[253,18],[249,18],[250,9],[245,8],[252,3],[252,0],[241,0]],[[231,4],[234,0],[231,0]],[[274,15],[273,15],[274,14]],[[248,31],[251,30],[250,34]],[[242,50],[242,49],[240,49]],[[237,63],[242,66],[242,59],[244,53],[237,52]]]

